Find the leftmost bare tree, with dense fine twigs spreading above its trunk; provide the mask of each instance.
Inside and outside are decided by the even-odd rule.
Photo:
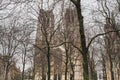
[[[11,25],[12,26],[12,25]],[[9,67],[12,63],[14,55],[16,55],[16,50],[18,48],[19,42],[15,40],[18,36],[18,28],[15,27],[3,27],[1,33],[1,47],[2,55],[4,60],[4,80],[8,80]]]

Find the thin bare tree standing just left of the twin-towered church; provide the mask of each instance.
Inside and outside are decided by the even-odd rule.
[[[26,35],[24,40],[20,41],[20,43],[21,43],[20,47],[22,47],[22,49],[21,49],[22,54],[21,55],[22,55],[22,66],[23,66],[21,80],[24,80],[26,63],[28,62],[29,54],[32,54],[31,51],[33,50],[33,47],[30,43],[31,42],[30,35],[31,35],[32,31],[29,30],[29,28],[26,28],[26,29],[23,30],[23,35],[26,35],[26,34],[29,34],[29,35]]]

